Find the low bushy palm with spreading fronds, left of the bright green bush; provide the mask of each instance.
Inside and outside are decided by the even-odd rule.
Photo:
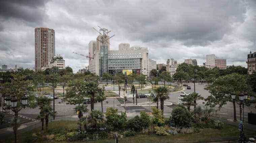
[[[84,124],[85,130],[88,128],[99,129],[103,123],[105,123],[104,115],[98,110],[93,110],[91,113],[81,119]]]

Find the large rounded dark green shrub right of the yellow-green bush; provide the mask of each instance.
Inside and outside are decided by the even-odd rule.
[[[183,106],[177,105],[171,113],[172,117],[170,122],[173,122],[177,127],[190,127],[192,123],[192,115]]]

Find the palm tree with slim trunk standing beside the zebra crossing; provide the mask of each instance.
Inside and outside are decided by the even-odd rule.
[[[160,86],[155,89],[155,92],[157,93],[157,96],[160,99],[160,108],[162,111],[164,111],[164,100],[170,98],[168,96],[168,88],[166,86]]]

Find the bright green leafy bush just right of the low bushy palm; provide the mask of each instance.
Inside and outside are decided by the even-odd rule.
[[[107,119],[106,125],[109,130],[119,131],[123,130],[126,126],[126,112],[117,113],[118,109],[107,108],[105,117]]]

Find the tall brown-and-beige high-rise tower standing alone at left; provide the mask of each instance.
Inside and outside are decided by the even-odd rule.
[[[50,65],[55,55],[55,31],[49,28],[35,28],[35,70]]]

